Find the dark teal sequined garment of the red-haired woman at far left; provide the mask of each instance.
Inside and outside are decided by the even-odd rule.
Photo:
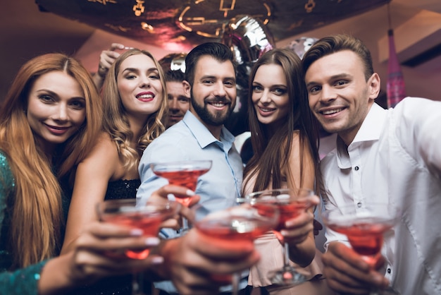
[[[15,183],[6,156],[0,152],[0,294],[37,294],[39,274],[46,261],[9,272],[11,253],[6,250],[8,228],[11,222],[7,200],[14,191]]]

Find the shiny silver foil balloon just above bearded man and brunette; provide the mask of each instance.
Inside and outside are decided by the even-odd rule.
[[[247,66],[252,66],[264,52],[275,48],[273,36],[261,20],[247,15],[230,20],[222,42],[230,47],[238,64]]]

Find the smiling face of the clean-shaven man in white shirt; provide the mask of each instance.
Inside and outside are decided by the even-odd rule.
[[[380,91],[378,74],[366,81],[359,56],[343,50],[314,61],[305,81],[309,107],[325,131],[352,143]]]

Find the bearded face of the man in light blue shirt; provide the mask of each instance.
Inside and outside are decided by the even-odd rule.
[[[191,92],[192,113],[209,129],[222,126],[236,104],[236,75],[231,61],[201,56],[193,87],[190,90],[190,85],[186,85],[186,91]]]

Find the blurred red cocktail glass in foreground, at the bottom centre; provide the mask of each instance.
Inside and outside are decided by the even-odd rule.
[[[215,243],[249,243],[278,223],[279,211],[272,204],[244,203],[206,215],[202,205],[192,208],[194,227]],[[218,277],[223,277],[219,275]],[[216,279],[216,275],[213,275]],[[238,294],[240,273],[232,274],[232,295]]]

